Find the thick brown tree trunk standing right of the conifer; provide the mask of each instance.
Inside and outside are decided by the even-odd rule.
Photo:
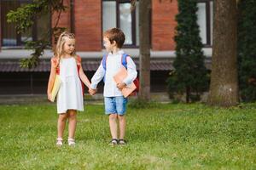
[[[236,1],[214,1],[209,105],[232,106],[238,103],[236,14]]]

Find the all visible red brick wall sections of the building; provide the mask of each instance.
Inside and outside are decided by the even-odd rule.
[[[102,50],[102,0],[73,0],[74,1],[74,32],[76,34],[77,51]],[[70,6],[70,0],[65,1]],[[177,0],[152,1],[152,49],[156,51],[174,50],[175,15]],[[57,14],[53,15],[55,24]],[[70,9],[61,14],[59,26],[70,30]]]

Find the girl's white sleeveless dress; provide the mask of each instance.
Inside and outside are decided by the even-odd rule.
[[[73,57],[61,59],[61,88],[57,94],[57,113],[67,110],[84,111],[82,85],[79,78],[76,59]]]

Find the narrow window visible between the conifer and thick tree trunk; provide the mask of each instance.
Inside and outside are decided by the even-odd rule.
[[[212,0],[199,0],[197,3],[197,22],[200,27],[201,41],[206,47],[212,46]]]

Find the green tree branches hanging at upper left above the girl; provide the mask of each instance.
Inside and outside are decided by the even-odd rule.
[[[42,39],[26,42],[26,49],[33,49],[34,52],[31,54],[31,58],[21,59],[20,66],[32,68],[38,65],[39,57],[44,54],[44,49],[51,47],[51,42],[49,42],[51,33],[56,38],[60,35],[61,31],[65,29],[58,27],[58,21],[61,12],[66,9],[67,6],[63,4],[63,0],[33,0],[32,3],[17,8],[15,11],[11,10],[9,14],[7,14],[7,21],[15,23],[17,33],[22,33],[31,28],[34,21],[47,11],[51,10],[51,14],[55,12],[58,13],[55,26],[52,26],[48,32],[45,32]]]

